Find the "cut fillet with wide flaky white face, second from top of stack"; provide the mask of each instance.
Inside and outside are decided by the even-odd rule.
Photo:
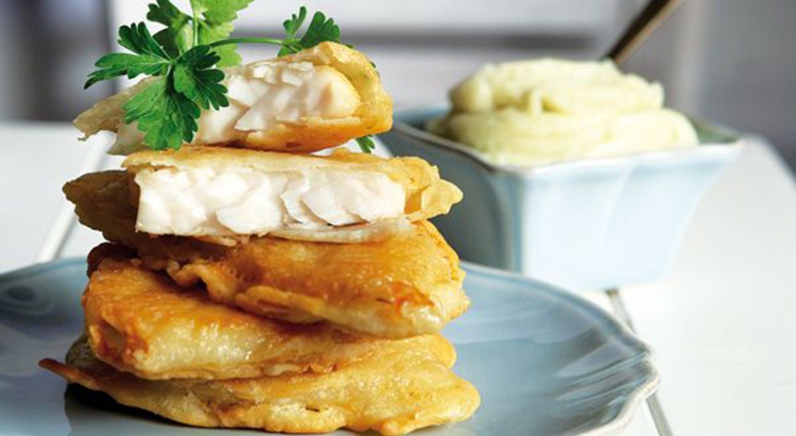
[[[138,152],[123,166],[133,179],[136,230],[155,235],[361,243],[462,200],[423,159],[344,149],[320,157],[184,147]]]

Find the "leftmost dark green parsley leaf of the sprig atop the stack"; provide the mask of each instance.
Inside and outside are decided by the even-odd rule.
[[[120,27],[119,45],[135,54],[110,53],[100,57],[94,64],[99,69],[88,75],[83,88],[119,76],[127,76],[129,79],[141,74],[162,76],[168,71],[170,56],[150,35],[144,23]]]

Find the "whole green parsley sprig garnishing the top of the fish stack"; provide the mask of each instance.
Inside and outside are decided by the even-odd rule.
[[[165,25],[154,36],[146,24],[119,28],[119,45],[131,53],[110,53],[96,61],[84,88],[115,77],[152,76],[150,83],[124,104],[127,124],[137,122],[144,142],[154,150],[178,150],[191,142],[201,109],[229,105],[220,68],[240,64],[236,45],[279,45],[279,56],[298,53],[324,41],[340,42],[340,28],[333,18],[315,12],[302,33],[306,7],[283,22],[284,38],[230,38],[237,13],[252,0],[191,0],[185,14],[170,0],[149,5],[146,18]],[[365,153],[373,150],[369,136],[357,138]]]

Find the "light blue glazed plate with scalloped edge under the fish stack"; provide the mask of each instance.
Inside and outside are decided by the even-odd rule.
[[[263,434],[202,430],[64,392],[37,367],[64,356],[80,332],[83,260],[0,275],[0,434],[174,436]],[[650,349],[591,303],[544,283],[465,265],[472,307],[447,330],[455,371],[481,391],[474,418],[425,435],[607,434],[625,425],[657,386]],[[340,432],[346,433],[346,432]]]

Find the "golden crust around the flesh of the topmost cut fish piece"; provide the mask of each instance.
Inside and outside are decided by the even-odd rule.
[[[269,130],[242,134],[233,142],[208,144],[237,146],[257,150],[307,153],[338,146],[353,138],[377,134],[392,127],[392,99],[381,86],[376,68],[357,50],[334,42],[322,42],[311,49],[279,58],[285,62],[310,62],[328,65],[343,74],[360,95],[361,103],[350,117],[322,119],[308,117],[300,123],[279,123]],[[247,68],[246,65],[236,68]],[[227,75],[236,68],[227,70]],[[145,80],[146,82],[146,80]],[[115,132],[123,125],[123,105],[142,88],[127,88],[101,100],[75,119],[75,127],[88,138],[100,130]]]

